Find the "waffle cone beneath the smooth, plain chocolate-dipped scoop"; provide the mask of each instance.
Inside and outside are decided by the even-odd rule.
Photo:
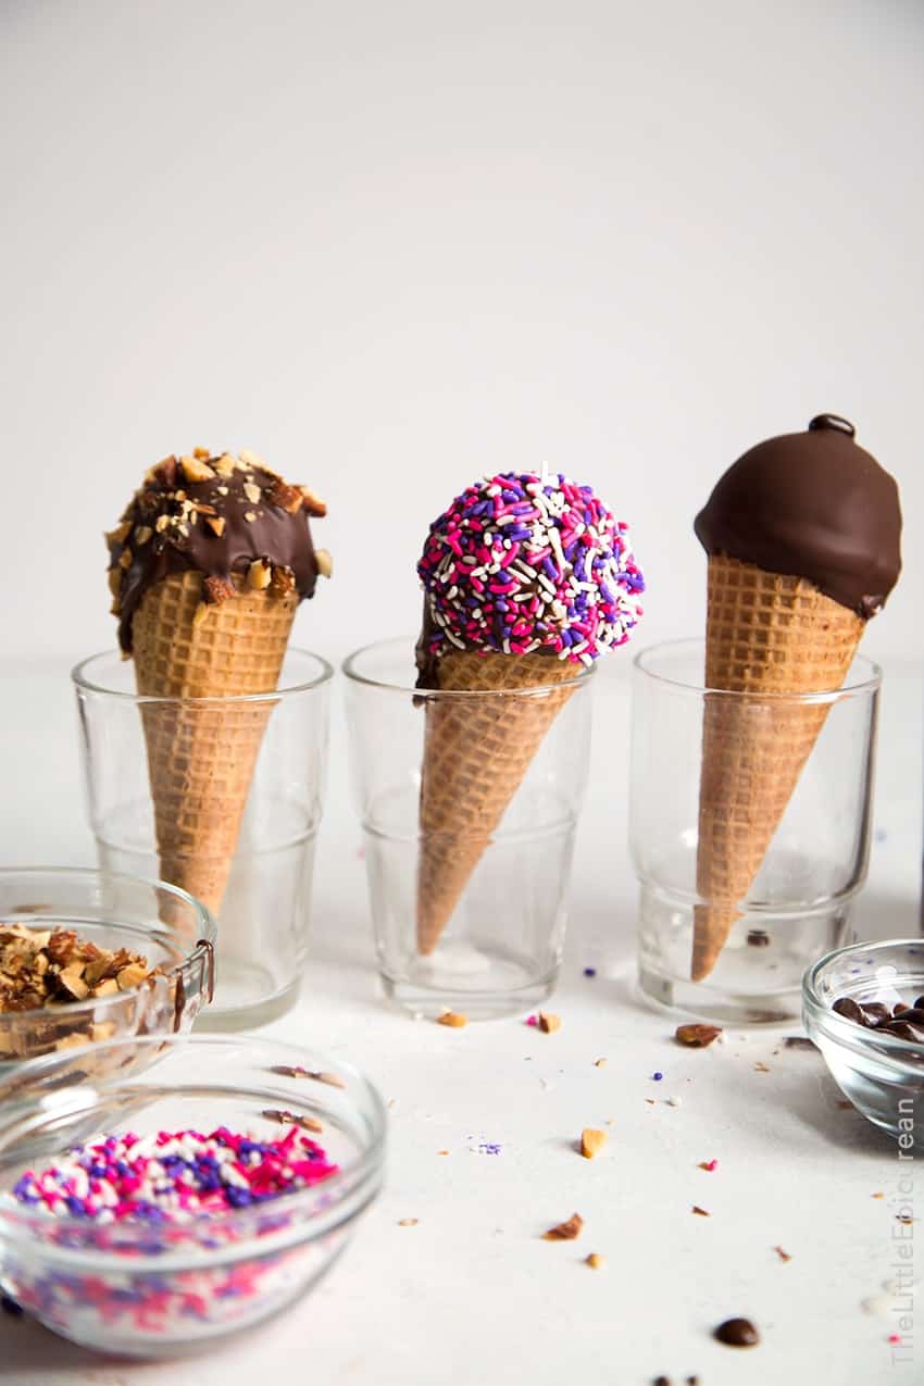
[[[705,697],[694,981],[743,913],[830,705],[772,694],[841,687],[864,625],[805,578],[709,559],[707,687],[754,696]]]

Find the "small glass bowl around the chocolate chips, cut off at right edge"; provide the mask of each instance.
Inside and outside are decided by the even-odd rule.
[[[924,1141],[924,1044],[869,1030],[833,1010],[841,997],[859,1005],[912,1005],[924,995],[924,938],[853,944],[827,954],[802,979],[802,1020],[841,1092],[876,1125],[909,1148]]]

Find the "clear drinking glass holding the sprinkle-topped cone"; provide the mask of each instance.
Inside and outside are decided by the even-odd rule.
[[[413,651],[411,639],[388,640],[356,651],[344,665],[381,977],[385,992],[414,1013],[511,1015],[549,997],[561,965],[565,894],[587,778],[593,671],[537,689],[429,692],[413,686]],[[515,729],[533,714],[542,719],[537,750],[488,834],[464,814],[438,829],[421,825],[427,732],[445,728],[447,714],[459,717],[463,730],[468,719],[485,715],[495,726],[513,728],[514,744],[507,747],[513,754]],[[483,776],[504,776],[513,784],[517,772],[510,771],[503,736],[490,753],[477,737],[474,744],[483,755]],[[441,854],[447,863],[443,880],[454,875],[459,894],[432,949],[424,951],[418,872],[423,881],[429,862],[432,877],[434,855]],[[467,863],[461,875],[459,862]],[[439,887],[439,876],[429,880],[434,884]]]

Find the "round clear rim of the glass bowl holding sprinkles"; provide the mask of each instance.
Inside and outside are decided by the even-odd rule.
[[[288,1040],[269,1040],[269,1038],[260,1038],[259,1035],[248,1035],[244,1033],[234,1035],[233,1034],[197,1035],[193,1031],[187,1031],[184,1034],[173,1034],[173,1035],[123,1035],[122,1038],[118,1040],[103,1040],[97,1044],[87,1045],[86,1048],[90,1049],[94,1056],[105,1053],[107,1051],[118,1052],[119,1049],[123,1049],[127,1045],[140,1046],[145,1049],[150,1048],[157,1055],[158,1052],[163,1052],[165,1048],[169,1048],[172,1053],[177,1053],[181,1052],[183,1048],[187,1045],[193,1045],[194,1049],[195,1048],[202,1049],[204,1046],[208,1045],[231,1049],[233,1046],[240,1048],[245,1041],[249,1041],[254,1045],[254,1048],[258,1048],[259,1045],[269,1045],[270,1049],[278,1053],[280,1059],[296,1058],[299,1055],[305,1058],[303,1049],[310,1048],[310,1046],[302,1046],[301,1044],[292,1044]],[[29,1060],[28,1069],[26,1066],[24,1066],[26,1071],[21,1071],[18,1074],[18,1078],[22,1080],[26,1077],[32,1077],[35,1081],[42,1077],[47,1077],[50,1071],[51,1073],[54,1071],[57,1064],[64,1066],[66,1063],[72,1063],[73,1059],[78,1058],[82,1052],[83,1048],[82,1049],[75,1048],[71,1051],[65,1051],[64,1053],[58,1052],[58,1053],[40,1055],[39,1058]],[[388,1112],[385,1109],[385,1102],[382,1099],[382,1095],[375,1087],[375,1084],[360,1069],[357,1069],[355,1064],[349,1063],[345,1059],[335,1059],[331,1055],[327,1055],[323,1051],[316,1051],[316,1049],[310,1049],[310,1055],[312,1059],[316,1059],[323,1064],[326,1071],[344,1073],[346,1074],[346,1077],[355,1078],[357,1081],[362,1094],[368,1100],[370,1106],[370,1113],[371,1113],[368,1123],[370,1137],[368,1142],[363,1145],[360,1150],[356,1152],[353,1159],[339,1166],[337,1173],[328,1175],[328,1178],[326,1178],[321,1184],[309,1185],[308,1188],[303,1189],[294,1189],[292,1192],[287,1192],[278,1200],[273,1200],[274,1204],[281,1203],[284,1209],[291,1209],[292,1211],[296,1211],[298,1209],[305,1207],[305,1204],[309,1204],[313,1200],[313,1198],[316,1198],[317,1191],[320,1188],[324,1188],[331,1193],[337,1193],[338,1195],[337,1202],[348,1199],[350,1193],[353,1193],[357,1186],[362,1186],[382,1164],[382,1159],[385,1155],[385,1141],[388,1134]],[[133,1074],[132,1077],[136,1080],[139,1077],[144,1078],[150,1073],[157,1073],[155,1064],[143,1070],[141,1074]],[[115,1081],[118,1084],[118,1076]],[[68,1094],[68,1092],[73,1094],[85,1091],[90,1095],[87,1106],[93,1107],[100,1099],[105,1098],[107,1094],[112,1091],[112,1088],[114,1088],[112,1076],[108,1078],[107,1076],[103,1076],[98,1082],[94,1082],[91,1077],[85,1076],[83,1081],[73,1082],[64,1088],[55,1088],[54,1091],[61,1094]],[[154,1089],[151,1091],[154,1094]],[[173,1091],[181,1095],[183,1084],[175,1087]],[[29,1096],[28,1087],[24,1088],[21,1096],[28,1099]],[[350,1103],[350,1106],[355,1106],[355,1103]],[[66,1110],[69,1113],[73,1113],[78,1109],[69,1103]],[[3,1163],[7,1159],[15,1159],[15,1145],[11,1148],[8,1145],[8,1139],[12,1138],[15,1141],[17,1135],[28,1137],[33,1134],[36,1120],[40,1120],[43,1116],[51,1119],[54,1117],[54,1113],[51,1110],[44,1112],[42,1107],[33,1107],[29,1112],[24,1112],[19,1107],[17,1112],[12,1112],[10,1120],[6,1121],[0,1114],[0,1163]],[[220,1211],[202,1213],[199,1217],[194,1217],[188,1222],[175,1224],[175,1225],[179,1225],[181,1228],[188,1228],[190,1231],[202,1228],[206,1224],[209,1227],[213,1227],[216,1224],[219,1227],[227,1227],[234,1224],[247,1227],[248,1222],[252,1221],[255,1217],[259,1216],[265,1217],[267,1206],[269,1204],[266,1203],[258,1203],[241,1209],[231,1207],[231,1209],[223,1209]],[[29,1207],[22,1207],[21,1204],[10,1206],[0,1202],[0,1225],[3,1225],[4,1222],[19,1228],[40,1227],[42,1229],[47,1229],[50,1225],[55,1225],[64,1231],[66,1231],[68,1228],[86,1231],[89,1227],[93,1227],[93,1224],[89,1222],[86,1217],[55,1217],[54,1224],[51,1224],[51,1220],[46,1214],[35,1213]],[[112,1224],[108,1225],[111,1227]],[[121,1224],[121,1228],[125,1234],[127,1234],[129,1239],[133,1239],[133,1235],[136,1232],[139,1239],[147,1239],[151,1235],[151,1227],[150,1224],[145,1222],[137,1222],[130,1225]]]

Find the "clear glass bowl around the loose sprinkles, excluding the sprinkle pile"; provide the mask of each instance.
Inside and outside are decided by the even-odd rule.
[[[78,1053],[36,1059],[28,1114],[0,1119],[0,1289],[62,1337],[137,1358],[208,1349],[305,1295],[381,1185],[387,1117],[371,1084],[312,1049],[254,1037],[136,1038],[98,1052],[118,1076],[87,1081]],[[101,1134],[224,1125],[278,1138],[267,1113],[319,1121],[312,1139],[338,1171],[272,1202],[169,1224],[57,1218],[10,1192],[28,1168]]]

